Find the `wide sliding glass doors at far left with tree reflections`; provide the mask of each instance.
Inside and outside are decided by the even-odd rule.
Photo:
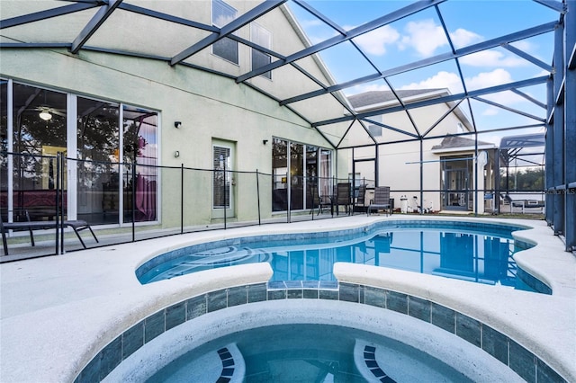
[[[157,111],[14,82],[10,92],[10,83],[0,84],[0,142],[11,152],[0,159],[0,190],[16,196],[4,208],[45,220],[61,191],[68,219],[157,220]],[[60,153],[67,161],[58,169]]]

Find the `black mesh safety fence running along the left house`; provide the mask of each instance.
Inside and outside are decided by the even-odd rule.
[[[10,174],[10,176],[9,176]],[[282,174],[280,174],[282,175]],[[6,233],[10,248],[0,262],[63,254],[82,248],[64,220],[85,220],[99,242],[116,245],[161,236],[247,227],[263,223],[345,217],[356,202],[352,181],[185,165],[88,161],[4,152],[0,162],[0,203],[4,222],[56,220],[55,229]],[[284,183],[283,183],[284,181]],[[350,184],[347,203],[334,192]],[[324,209],[320,208],[320,202]],[[5,255],[5,254],[4,254]]]

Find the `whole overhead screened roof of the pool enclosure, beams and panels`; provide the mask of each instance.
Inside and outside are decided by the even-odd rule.
[[[113,49],[119,54],[166,60],[170,65],[193,64],[215,71],[215,76],[232,77],[239,85],[250,82],[281,106],[301,113],[320,132],[336,124],[335,130],[344,134],[356,118],[374,116],[347,110],[333,94],[390,91],[390,85],[394,91],[448,89],[451,95],[470,98],[472,111],[468,111],[468,101],[459,109],[478,130],[538,125],[545,115],[542,78],[552,67],[553,31],[563,12],[557,0],[287,0],[282,5],[223,1],[235,11],[236,19],[227,19],[229,24],[219,25],[220,29],[212,25],[209,0],[124,0],[113,4],[0,0],[1,48],[64,44],[76,49],[72,53]],[[91,29],[98,17],[103,17],[102,22]],[[266,41],[253,36],[251,22],[272,32],[269,46],[263,47]],[[286,29],[291,32],[283,33]],[[78,42],[81,37],[85,41]],[[225,37],[238,42],[238,63],[211,54],[211,43]],[[270,64],[252,67],[252,49],[258,47],[270,55]],[[270,70],[272,81],[261,76]],[[286,78],[299,87],[283,86]],[[392,120],[394,135],[416,135],[418,139],[418,134],[428,129],[428,121],[410,120],[402,109],[415,105],[409,96],[404,97],[406,105],[398,110],[400,120],[390,116],[384,120]],[[427,102],[458,100],[431,96]],[[394,108],[390,103],[381,107],[384,112]],[[529,113],[536,119],[527,116]],[[436,120],[436,114],[434,117],[431,120]]]

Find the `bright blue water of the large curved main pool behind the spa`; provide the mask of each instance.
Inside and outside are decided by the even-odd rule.
[[[363,263],[487,284],[529,289],[516,278],[511,232],[518,227],[454,223],[374,227],[340,236],[262,236],[183,249],[140,267],[149,283],[242,263],[270,263],[271,281],[335,281],[337,262]],[[531,290],[531,289],[529,289]]]

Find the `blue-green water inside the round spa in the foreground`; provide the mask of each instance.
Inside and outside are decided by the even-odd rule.
[[[236,352],[230,354],[232,347]],[[247,383],[473,381],[444,361],[383,335],[338,325],[293,324],[215,339],[170,362],[147,382],[228,381],[224,379],[229,377]]]

